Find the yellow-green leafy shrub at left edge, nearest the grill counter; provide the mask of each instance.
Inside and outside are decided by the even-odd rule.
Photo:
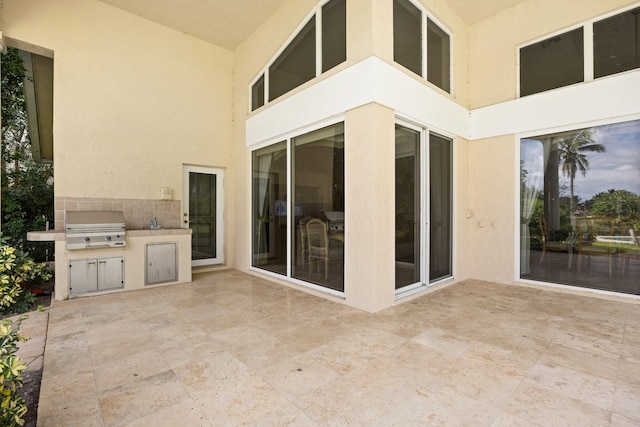
[[[36,301],[23,287],[33,277],[35,265],[27,254],[7,245],[5,237],[0,238],[0,314],[23,313]]]

